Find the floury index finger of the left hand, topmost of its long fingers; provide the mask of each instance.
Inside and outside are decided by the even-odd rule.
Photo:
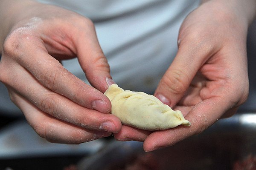
[[[85,84],[61,63],[48,54],[41,40],[35,36],[23,39],[15,50],[8,51],[13,60],[26,68],[41,84],[77,104],[108,113],[109,99],[99,90]]]

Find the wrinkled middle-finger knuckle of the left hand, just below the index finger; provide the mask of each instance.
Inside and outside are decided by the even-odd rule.
[[[54,117],[59,117],[58,115],[58,99],[53,96],[53,95],[44,95],[40,108],[44,111],[47,112],[48,114],[54,116]]]

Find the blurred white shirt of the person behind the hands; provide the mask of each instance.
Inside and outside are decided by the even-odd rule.
[[[153,93],[177,52],[184,18],[199,0],[38,0],[93,20],[113,80],[122,88]],[[77,59],[63,65],[87,82]],[[17,112],[0,84],[0,112]],[[3,95],[2,95],[3,94]]]

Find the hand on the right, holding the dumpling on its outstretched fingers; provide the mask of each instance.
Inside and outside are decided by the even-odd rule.
[[[189,14],[180,28],[177,56],[154,95],[181,110],[191,127],[152,133],[123,126],[116,140],[144,141],[144,150],[151,151],[201,133],[236,112],[249,90],[248,19],[237,12],[230,2],[212,0]]]

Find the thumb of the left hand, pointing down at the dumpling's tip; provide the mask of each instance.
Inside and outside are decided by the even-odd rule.
[[[76,41],[78,60],[90,84],[101,92],[108,89],[110,67],[99,45],[95,29],[89,29]]]

